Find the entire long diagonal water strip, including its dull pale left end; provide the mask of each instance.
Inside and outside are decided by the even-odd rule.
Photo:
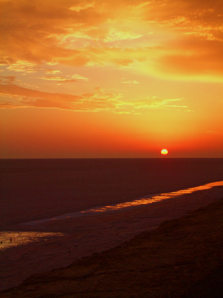
[[[83,210],[83,211],[66,213],[66,214],[62,214],[59,216],[55,216],[53,218],[45,218],[45,219],[39,219],[36,221],[29,221],[26,223],[22,223],[21,225],[38,225],[38,224],[45,223],[48,221],[55,221],[55,220],[59,220],[59,219],[70,219],[70,218],[75,218],[75,217],[79,217],[79,216],[83,216],[83,215],[87,215],[87,214],[94,214],[94,213],[106,212],[106,211],[109,212],[112,210],[120,210],[120,209],[123,209],[126,207],[134,207],[134,206],[139,206],[139,205],[151,204],[151,203],[155,203],[155,202],[159,202],[159,201],[164,201],[164,200],[170,199],[170,198],[176,198],[176,197],[179,197],[180,195],[190,194],[190,193],[193,193],[198,190],[207,190],[214,186],[223,186],[223,181],[212,182],[212,183],[208,183],[205,185],[188,188],[185,190],[178,190],[178,191],[175,191],[172,193],[161,193],[161,194],[153,195],[151,197],[139,198],[138,200],[129,201],[129,202],[125,202],[125,203],[114,204],[114,205],[109,205],[109,206],[100,206],[100,207],[95,207],[95,208],[87,209],[87,210]]]

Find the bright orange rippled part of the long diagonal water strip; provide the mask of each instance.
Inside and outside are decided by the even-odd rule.
[[[134,200],[131,202],[116,204],[114,206],[97,207],[95,209],[84,210],[81,212],[104,212],[107,210],[121,209],[121,208],[125,208],[125,207],[130,207],[130,206],[145,205],[145,204],[150,204],[150,203],[154,203],[154,202],[158,202],[158,201],[163,201],[163,200],[166,200],[169,198],[176,198],[176,197],[179,197],[180,195],[193,193],[194,191],[198,191],[198,190],[206,190],[206,189],[212,188],[214,186],[223,186],[223,181],[208,183],[205,185],[192,187],[192,188],[188,188],[188,189],[184,189],[184,190],[178,190],[178,191],[175,191],[172,193],[161,193],[159,195],[154,195],[151,198],[142,198],[142,199]]]

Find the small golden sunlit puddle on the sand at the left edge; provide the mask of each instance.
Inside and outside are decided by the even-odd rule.
[[[30,242],[48,240],[55,236],[64,236],[64,234],[47,232],[2,231],[0,232],[0,250],[4,250],[12,246],[28,244]]]

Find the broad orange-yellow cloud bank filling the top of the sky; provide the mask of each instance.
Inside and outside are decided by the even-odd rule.
[[[120,68],[135,64],[139,71],[146,68],[144,72],[159,77],[170,71],[174,78],[194,74],[194,78],[223,80],[219,0],[49,0],[44,5],[11,0],[0,4],[4,32],[0,63],[10,65],[10,70],[53,75],[59,72],[38,65]],[[147,32],[153,32],[152,42]],[[114,45],[115,41],[120,44]]]

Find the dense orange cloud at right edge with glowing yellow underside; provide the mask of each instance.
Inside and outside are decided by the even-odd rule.
[[[177,41],[175,46],[179,49],[177,53],[169,53],[159,59],[158,67],[162,72],[191,78],[223,78],[223,43],[187,36]]]

